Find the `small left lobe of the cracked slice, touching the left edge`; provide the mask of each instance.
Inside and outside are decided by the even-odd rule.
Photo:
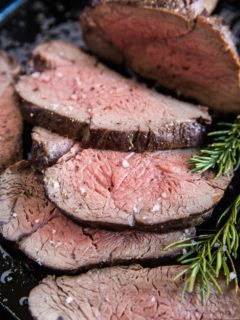
[[[0,176],[0,231],[7,240],[18,241],[36,231],[56,213],[45,197],[42,176],[20,161]]]

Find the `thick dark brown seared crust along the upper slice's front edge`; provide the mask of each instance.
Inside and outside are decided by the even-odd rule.
[[[36,105],[22,102],[22,113],[26,121],[33,125],[76,139],[85,148],[109,149],[116,151],[154,151],[184,147],[197,147],[206,137],[209,122],[197,121],[167,125],[158,133],[152,131],[110,131],[92,129],[91,124],[67,118]],[[171,133],[171,139],[169,134]]]

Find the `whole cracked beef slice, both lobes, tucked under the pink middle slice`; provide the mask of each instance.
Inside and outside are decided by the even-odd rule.
[[[192,237],[194,229],[165,235],[83,228],[65,217],[44,194],[42,176],[26,161],[0,177],[0,232],[40,265],[65,272],[132,261],[163,263],[179,250],[164,247]]]

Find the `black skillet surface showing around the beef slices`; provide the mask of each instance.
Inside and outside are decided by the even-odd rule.
[[[0,0],[1,10],[11,1]],[[15,2],[20,2],[19,0]],[[24,2],[24,1],[23,1]],[[26,1],[27,2],[27,1]],[[39,42],[62,38],[84,46],[81,39],[79,14],[87,1],[28,1],[14,15],[0,19],[0,48],[13,54],[24,65],[31,49]],[[239,0],[221,1],[217,13],[220,13],[231,26],[240,50],[240,4]],[[126,73],[126,71],[123,71]],[[30,127],[25,126],[24,155],[27,158],[30,151]],[[234,191],[240,189],[239,179],[234,179],[235,187],[230,188],[225,200],[215,210],[215,215],[234,196]],[[199,228],[210,228],[206,226]],[[29,261],[12,245],[1,241],[0,245],[0,320],[30,320],[27,307],[29,291],[49,272]]]

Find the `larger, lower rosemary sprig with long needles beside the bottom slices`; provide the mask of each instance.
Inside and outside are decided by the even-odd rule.
[[[238,279],[235,269],[235,259],[239,247],[240,225],[240,195],[220,216],[217,222],[218,231],[205,234],[196,239],[185,239],[168,245],[165,249],[181,248],[186,252],[178,259],[186,268],[183,269],[175,280],[185,275],[182,296],[186,291],[191,293],[195,288],[196,280],[199,283],[200,297],[204,304],[211,293],[211,283],[219,293],[222,287],[218,281],[219,274],[223,272],[227,285],[234,281],[238,290]],[[227,218],[222,227],[224,218]]]

